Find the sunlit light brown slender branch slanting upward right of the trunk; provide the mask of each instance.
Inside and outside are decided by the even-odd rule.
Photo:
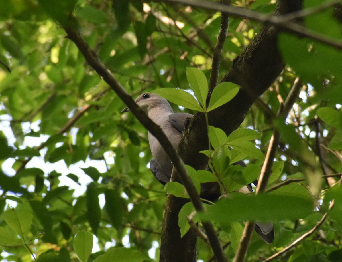
[[[302,89],[302,83],[300,79],[297,77],[294,80],[293,86],[285,100],[284,105],[279,109],[277,113],[278,117],[281,117],[285,121],[295,100],[298,98],[301,89]],[[264,164],[261,169],[260,180],[259,180],[258,187],[255,193],[257,195],[264,192],[267,187],[268,178],[272,173],[273,160],[275,158],[275,154],[278,149],[279,141],[280,141],[280,133],[275,128],[273,135],[271,137],[271,141],[269,142],[269,145],[268,145]],[[254,230],[254,226],[255,226],[255,222],[247,221],[244,231],[242,233],[242,236],[240,238],[240,243],[236,251],[233,262],[243,262],[245,260],[249,242],[251,240],[252,233]]]

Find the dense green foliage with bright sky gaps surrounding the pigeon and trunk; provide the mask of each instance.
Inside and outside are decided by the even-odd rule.
[[[232,5],[271,14],[274,2],[236,0]],[[303,25],[341,39],[341,7],[316,8],[327,2],[306,1],[303,8],[316,11],[303,18]],[[132,114],[120,113],[124,103],[63,27],[79,30],[133,97],[159,89],[171,102],[175,98],[174,111],[194,114],[219,110],[239,91],[224,82],[206,105],[220,13],[167,1],[0,0],[0,5],[1,259],[159,261],[167,192],[187,197],[186,191],[176,182],[164,188],[153,177],[147,130]],[[261,28],[260,22],[230,17],[219,79]],[[314,228],[326,212],[319,230],[274,261],[342,257],[342,187],[337,183],[342,52],[318,40],[279,33],[286,63],[282,73],[240,128],[228,137],[219,128],[208,129],[213,150],[203,153],[219,176],[187,166],[198,190],[200,183],[221,179],[231,193],[207,207],[209,214],[194,217],[214,223],[229,260],[246,220],[274,222],[274,243],[266,245],[254,234],[246,254],[246,261],[262,261]],[[255,82],[263,77],[256,75]],[[284,123],[277,112],[297,77],[303,85]],[[190,87],[197,101],[182,93]],[[275,127],[281,139],[266,189],[272,192],[233,192],[260,175]],[[229,165],[239,160],[247,167]],[[193,211],[188,203],[179,214],[182,235]],[[199,260],[212,261],[213,252],[201,238],[197,249]]]

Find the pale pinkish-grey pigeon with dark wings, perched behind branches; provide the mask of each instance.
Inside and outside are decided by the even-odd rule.
[[[165,98],[154,93],[143,93],[135,99],[135,103],[139,105],[139,107],[148,115],[149,118],[152,119],[153,122],[161,127],[172,146],[177,149],[184,129],[184,122],[186,118],[193,117],[193,115],[188,113],[174,113],[169,102]],[[128,108],[124,108],[121,112],[126,111],[128,111]],[[154,157],[154,159],[150,161],[151,171],[158,181],[165,185],[170,181],[173,164],[159,141],[150,132],[148,132],[148,142]],[[235,164],[246,166],[242,161]],[[249,193],[253,190],[249,184],[242,187],[239,191]],[[255,231],[267,244],[271,244],[273,242],[273,223],[257,222],[255,225]]]

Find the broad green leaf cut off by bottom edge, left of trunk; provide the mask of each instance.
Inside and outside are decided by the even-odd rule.
[[[147,257],[138,250],[130,248],[112,248],[106,253],[98,256],[94,262],[140,262]]]

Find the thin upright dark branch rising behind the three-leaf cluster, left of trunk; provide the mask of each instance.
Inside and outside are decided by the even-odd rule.
[[[230,5],[231,0],[221,0],[221,3]],[[211,63],[211,71],[210,71],[210,79],[209,79],[209,94],[211,94],[214,87],[217,85],[219,79],[219,72],[220,72],[220,61],[221,61],[221,54],[223,49],[224,41],[227,37],[229,26],[229,14],[228,13],[221,13],[221,26],[219,35],[217,37],[216,46],[213,53],[212,63]]]

